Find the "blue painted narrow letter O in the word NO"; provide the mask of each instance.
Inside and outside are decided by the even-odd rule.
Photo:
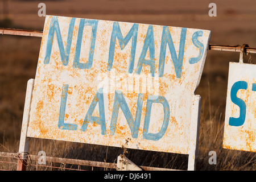
[[[84,26],[91,26],[92,27],[92,34],[90,36],[90,49],[89,49],[88,61],[86,63],[80,63],[79,60],[80,60],[82,34],[84,32]],[[79,68],[79,69],[90,69],[90,68],[92,68],[94,48],[95,48],[96,35],[97,35],[97,27],[98,27],[98,20],[94,20],[94,19],[81,19],[80,20],[79,32],[78,32],[78,35],[77,35],[75,59],[74,59],[74,62],[73,62],[73,68]]]

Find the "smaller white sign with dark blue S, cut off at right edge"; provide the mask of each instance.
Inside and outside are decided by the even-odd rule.
[[[223,147],[256,152],[256,65],[229,64]]]

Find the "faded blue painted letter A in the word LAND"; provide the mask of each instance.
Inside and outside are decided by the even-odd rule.
[[[100,117],[92,116],[93,111],[98,103]],[[89,110],[85,115],[84,122],[82,122],[82,131],[87,130],[88,123],[97,123],[101,125],[101,134],[106,135],[106,120],[105,120],[105,109],[104,109],[104,98],[103,89],[100,88],[93,98],[92,103],[89,106]]]

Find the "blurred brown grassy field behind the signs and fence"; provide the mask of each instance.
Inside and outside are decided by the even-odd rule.
[[[47,15],[201,28],[212,31],[210,44],[256,47],[255,0],[1,0],[0,27],[43,31]],[[216,3],[217,16],[209,16]],[[0,35],[0,151],[18,152],[27,81],[35,78],[41,38]],[[222,139],[226,107],[229,62],[239,60],[239,52],[208,51],[200,94],[201,119],[197,170],[255,170],[253,152],[224,150]],[[244,57],[256,63],[256,55]],[[31,139],[29,151],[86,160],[115,162],[121,148]],[[208,163],[209,151],[216,151],[217,164]],[[187,168],[187,157],[160,152],[128,150],[126,155],[138,165]],[[142,157],[143,156],[143,159]],[[1,166],[0,166],[1,167]]]

